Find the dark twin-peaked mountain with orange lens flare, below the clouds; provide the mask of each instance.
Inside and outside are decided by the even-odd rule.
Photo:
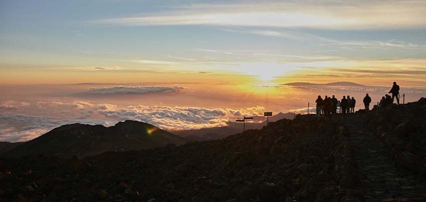
[[[86,157],[106,151],[151,149],[185,142],[181,137],[138,121],[127,120],[111,127],[75,123],[60,126],[22,143],[5,152],[3,156]]]

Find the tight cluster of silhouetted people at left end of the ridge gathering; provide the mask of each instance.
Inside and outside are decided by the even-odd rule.
[[[347,97],[343,96],[340,101],[337,100],[334,95],[332,95],[332,97],[325,96],[324,99],[318,95],[315,103],[317,115],[323,114],[325,116],[329,116],[331,114],[336,114],[338,107],[340,107],[340,113],[354,113],[356,100],[354,97],[350,98],[349,95]]]

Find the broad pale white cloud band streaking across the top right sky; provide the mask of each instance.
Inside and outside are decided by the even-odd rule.
[[[195,4],[139,16],[92,20],[127,26],[220,25],[320,29],[425,27],[425,1],[270,1]]]

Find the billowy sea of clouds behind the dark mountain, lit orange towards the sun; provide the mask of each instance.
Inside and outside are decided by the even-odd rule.
[[[264,109],[262,106],[245,109],[161,105],[118,107],[84,101],[38,101],[35,106],[46,112],[45,116],[0,113],[0,141],[28,141],[55,127],[72,123],[111,126],[118,121],[137,120],[170,131],[218,127],[226,126],[235,116],[258,115]]]

